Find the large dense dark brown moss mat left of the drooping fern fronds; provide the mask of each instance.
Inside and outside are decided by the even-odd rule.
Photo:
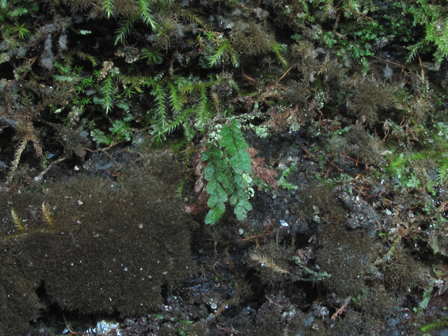
[[[162,285],[180,281],[192,268],[173,167],[169,155],[158,154],[130,168],[121,184],[92,176],[52,184],[45,202],[57,230],[34,230],[30,223],[25,236],[3,236],[1,250],[18,260],[15,272],[27,281],[43,281],[63,309],[144,314],[160,304]],[[38,204],[2,194],[1,209],[8,202],[24,219],[29,205]]]

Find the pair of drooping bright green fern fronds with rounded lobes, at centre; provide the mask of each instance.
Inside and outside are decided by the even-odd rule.
[[[227,202],[235,207],[239,221],[244,221],[247,211],[252,209],[248,202],[253,195],[250,187],[251,157],[239,128],[237,120],[230,120],[222,128],[216,127],[216,131],[209,134],[207,151],[202,153],[201,160],[207,162],[204,178],[208,181],[206,189],[210,195],[206,224],[213,225],[223,216]]]

